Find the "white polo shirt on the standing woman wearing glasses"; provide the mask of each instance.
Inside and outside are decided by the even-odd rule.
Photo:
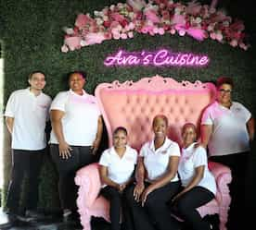
[[[228,155],[250,150],[247,122],[250,112],[233,102],[230,109],[218,102],[212,103],[202,115],[202,125],[213,126],[208,143],[210,156]]]

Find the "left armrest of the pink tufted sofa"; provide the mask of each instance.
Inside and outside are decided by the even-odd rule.
[[[78,189],[78,206],[91,207],[101,188],[98,163],[91,163],[76,172],[75,184]]]

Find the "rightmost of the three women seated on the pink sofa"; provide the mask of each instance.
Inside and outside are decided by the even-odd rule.
[[[182,128],[183,149],[178,167],[182,191],[173,199],[178,214],[193,230],[211,230],[201,218],[197,208],[214,199],[216,183],[208,168],[207,152],[197,147],[197,129],[187,123]]]

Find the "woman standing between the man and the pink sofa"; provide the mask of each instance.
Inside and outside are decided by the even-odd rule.
[[[69,74],[70,91],[61,91],[50,108],[50,151],[58,169],[58,192],[64,220],[76,214],[76,171],[93,163],[102,136],[102,119],[96,98],[86,93],[85,73]]]

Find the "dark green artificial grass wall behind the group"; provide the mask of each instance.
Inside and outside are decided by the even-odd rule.
[[[190,37],[178,35],[153,36],[137,34],[134,39],[106,41],[88,46],[67,54],[60,52],[64,32],[62,27],[73,27],[78,13],[92,13],[123,1],[107,0],[6,0],[0,2],[0,40],[5,59],[5,103],[12,91],[27,87],[29,73],[38,69],[46,73],[45,92],[54,97],[58,91],[67,89],[65,75],[71,70],[86,70],[88,83],[85,90],[93,93],[100,82],[114,79],[137,80],[159,74],[176,80],[211,81],[224,75],[235,81],[234,99],[246,105],[256,115],[254,75],[256,73],[255,50],[232,48],[211,40],[198,42]],[[210,4],[211,1],[202,1]],[[229,4],[230,1],[224,1]],[[232,7],[236,2],[232,2]],[[239,6],[237,6],[239,8]],[[236,10],[237,10],[236,8]],[[238,14],[238,10],[236,12]],[[242,9],[244,12],[244,8]],[[230,14],[231,15],[231,14]],[[233,16],[233,15],[231,15]],[[246,22],[250,21],[248,15]],[[247,18],[246,18],[247,17]],[[243,19],[243,18],[241,18]],[[252,25],[253,23],[251,23]],[[247,24],[246,24],[247,28]],[[249,28],[249,31],[253,30]],[[104,59],[119,49],[126,51],[170,49],[173,52],[208,54],[211,61],[208,67],[105,67]],[[106,137],[103,143],[106,146]],[[105,145],[104,145],[105,144]],[[5,187],[10,174],[10,155],[5,154]],[[251,158],[256,163],[255,157]],[[252,168],[252,166],[251,166]],[[45,209],[59,207],[58,176],[49,155],[45,156],[40,186],[39,206]],[[250,190],[250,184],[249,188]]]

